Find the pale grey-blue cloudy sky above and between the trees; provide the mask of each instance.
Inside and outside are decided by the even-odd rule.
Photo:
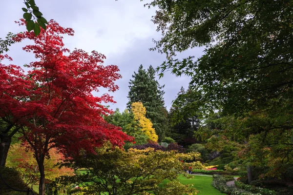
[[[156,26],[150,21],[155,9],[147,9],[140,0],[35,0],[45,19],[54,19],[63,27],[71,27],[75,31],[74,37],[65,37],[65,47],[70,50],[80,48],[86,52],[96,50],[104,54],[107,59],[105,65],[115,64],[120,69],[122,79],[117,81],[119,91],[111,93],[116,104],[110,104],[112,109],[126,107],[128,82],[133,72],[140,64],[145,68],[149,65],[157,67],[166,59],[165,55],[151,52],[148,48],[154,46],[152,39],[160,39]],[[22,18],[23,0],[1,0],[0,37],[4,38],[8,32],[24,31],[14,23]],[[28,42],[11,46],[8,53],[13,58],[13,64],[23,65],[34,60],[34,56],[25,53],[21,47]],[[190,55],[199,57],[203,48],[195,48],[178,54],[178,59]],[[7,63],[3,61],[3,63]],[[166,73],[159,80],[165,84],[165,102],[169,109],[171,101],[176,97],[181,86],[188,87],[189,78],[176,78]],[[101,93],[105,93],[101,90]]]

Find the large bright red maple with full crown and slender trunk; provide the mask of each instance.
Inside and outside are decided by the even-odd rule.
[[[24,21],[18,22],[25,25]],[[105,140],[123,146],[131,141],[118,127],[105,122],[103,115],[111,111],[102,102],[114,102],[105,94],[94,97],[100,87],[113,92],[118,89],[114,81],[121,78],[115,65],[103,65],[105,56],[81,49],[72,52],[64,48],[63,35],[73,36],[71,28],[63,28],[50,20],[46,31],[36,37],[33,32],[18,34],[16,41],[30,39],[33,45],[23,47],[33,52],[36,59],[27,67],[27,76],[34,83],[27,96],[28,111],[20,132],[34,151],[40,170],[39,193],[44,195],[44,159],[51,148],[78,155],[80,150],[94,152]],[[66,55],[65,55],[66,54]]]

